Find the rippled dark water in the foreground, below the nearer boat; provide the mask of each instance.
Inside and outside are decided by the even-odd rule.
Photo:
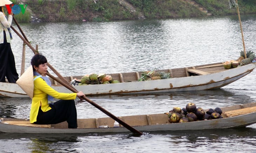
[[[14,141],[13,152],[254,152],[256,131],[251,128],[223,130],[88,134],[10,134],[0,141]],[[132,144],[132,145],[131,145]],[[232,147],[227,144],[232,144]],[[242,147],[241,147],[242,146]],[[1,148],[11,147],[9,143]]]

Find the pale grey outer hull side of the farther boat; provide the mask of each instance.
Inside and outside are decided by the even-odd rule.
[[[109,95],[109,94],[148,94],[178,91],[196,91],[221,88],[245,75],[255,68],[255,64],[228,69],[207,75],[190,77],[177,77],[153,81],[124,82],[115,84],[98,84],[74,86],[76,90],[86,95]],[[0,83],[0,95],[4,97],[28,97],[28,95],[13,83]],[[52,86],[58,92],[71,93],[66,87]]]

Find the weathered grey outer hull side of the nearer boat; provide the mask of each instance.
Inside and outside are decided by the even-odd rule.
[[[134,126],[141,132],[150,131],[177,131],[177,130],[206,130],[246,127],[256,123],[256,113],[240,115],[236,117],[221,118],[217,120],[196,121],[187,123],[171,123],[159,125]],[[0,123],[0,131],[6,133],[105,133],[105,132],[129,132],[124,127],[118,128],[88,128],[88,129],[57,129],[26,127]]]

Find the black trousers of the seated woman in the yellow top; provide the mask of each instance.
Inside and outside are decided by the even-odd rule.
[[[52,109],[43,112],[39,107],[35,124],[58,124],[68,122],[68,128],[77,128],[77,116],[74,100],[59,100],[50,105]]]

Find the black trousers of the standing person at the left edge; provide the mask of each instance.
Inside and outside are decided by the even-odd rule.
[[[11,44],[7,43],[4,31],[4,43],[0,44],[0,82],[6,82],[5,77],[9,83],[16,83],[19,79]]]

